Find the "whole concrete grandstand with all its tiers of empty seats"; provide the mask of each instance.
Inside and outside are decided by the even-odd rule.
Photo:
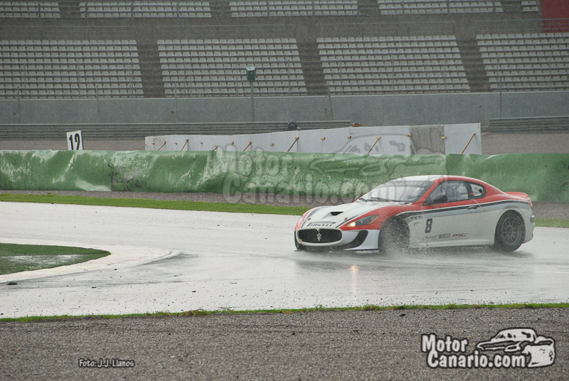
[[[558,0],[0,1],[0,21],[0,104],[569,91]]]

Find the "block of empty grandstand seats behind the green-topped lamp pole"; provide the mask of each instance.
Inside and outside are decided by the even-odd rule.
[[[243,96],[243,68],[255,66],[257,95],[306,95],[294,38],[159,40],[166,96]]]

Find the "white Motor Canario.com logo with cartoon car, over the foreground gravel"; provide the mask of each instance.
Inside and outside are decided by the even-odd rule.
[[[467,352],[467,338],[435,333],[421,336],[427,365],[442,369],[546,367],[555,362],[555,340],[538,336],[533,328],[507,328]]]

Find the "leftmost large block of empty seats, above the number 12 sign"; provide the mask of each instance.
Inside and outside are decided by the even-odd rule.
[[[0,96],[142,97],[134,40],[3,40]]]

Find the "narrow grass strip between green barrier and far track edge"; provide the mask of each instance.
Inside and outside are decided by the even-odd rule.
[[[13,195],[0,193],[0,201],[14,203],[52,203],[75,205],[119,206],[127,208],[153,208],[169,210],[203,210],[228,213],[257,213],[275,215],[302,215],[309,210],[307,206],[273,206],[257,204],[207,203],[205,201],[150,200],[147,198],[97,198],[70,195]],[[536,218],[541,227],[567,227],[569,220]]]

